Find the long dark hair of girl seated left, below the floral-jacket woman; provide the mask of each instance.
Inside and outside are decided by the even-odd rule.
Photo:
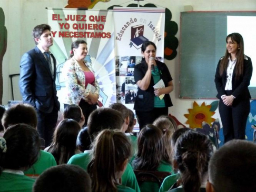
[[[58,165],[66,164],[73,155],[81,153],[76,147],[80,130],[80,125],[73,119],[63,119],[55,128],[53,142],[44,150],[54,156]]]

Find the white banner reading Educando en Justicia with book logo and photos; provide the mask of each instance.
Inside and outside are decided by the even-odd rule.
[[[134,66],[142,60],[141,46],[154,42],[163,62],[165,8],[114,7],[116,99],[133,109],[137,96]]]

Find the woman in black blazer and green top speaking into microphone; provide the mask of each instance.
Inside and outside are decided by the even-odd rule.
[[[142,62],[135,65],[134,80],[138,86],[134,109],[140,124],[140,130],[146,124],[152,124],[161,115],[168,115],[168,107],[172,106],[169,93],[173,90],[173,82],[168,67],[156,57],[156,46],[153,42],[144,42],[141,47]],[[153,86],[160,80],[164,88]],[[164,97],[160,99],[160,95]]]

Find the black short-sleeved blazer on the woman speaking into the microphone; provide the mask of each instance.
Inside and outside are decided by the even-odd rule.
[[[159,68],[160,78],[163,79],[165,86],[172,80],[171,74],[168,67],[157,60],[155,60],[157,67]],[[147,71],[147,64],[145,61],[141,62],[134,67],[134,80],[137,83],[139,80],[143,79]],[[137,97],[134,103],[134,109],[141,112],[148,112],[154,108],[154,79],[151,76],[149,88],[146,90],[141,90],[138,87]],[[172,106],[171,97],[169,94],[164,95],[164,102],[166,107]]]

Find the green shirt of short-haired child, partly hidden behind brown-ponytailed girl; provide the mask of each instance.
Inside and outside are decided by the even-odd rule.
[[[84,151],[82,154],[73,155],[70,160],[68,160],[67,164],[78,165],[87,170],[87,166],[90,163],[90,154],[91,151]],[[140,192],[140,187],[130,164],[127,164],[124,174],[122,175],[122,185],[130,187],[136,192]]]

